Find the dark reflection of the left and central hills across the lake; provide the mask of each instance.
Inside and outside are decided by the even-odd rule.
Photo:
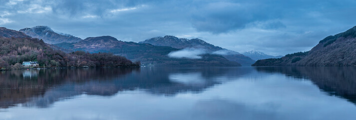
[[[34,69],[36,70],[36,69]],[[47,107],[63,98],[83,93],[114,95],[118,91],[143,89],[152,94],[174,95],[181,92],[201,92],[219,84],[216,76],[236,78],[252,68],[83,68],[40,69],[0,72],[0,107],[22,103],[25,106]],[[201,84],[175,82],[171,73],[199,73]]]

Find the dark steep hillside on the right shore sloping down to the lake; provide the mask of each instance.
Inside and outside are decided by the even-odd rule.
[[[257,60],[254,66],[356,66],[356,26],[319,41],[310,51]]]

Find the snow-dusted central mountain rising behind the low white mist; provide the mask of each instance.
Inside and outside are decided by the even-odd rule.
[[[219,46],[215,46],[199,38],[187,39],[187,38],[178,38],[175,36],[166,35],[164,37],[162,36],[153,37],[150,39],[146,39],[144,41],[140,41],[138,43],[149,43],[157,46],[171,46],[174,48],[202,48],[207,50],[208,52],[222,55],[230,61],[236,61],[246,66],[250,66],[252,63],[255,62],[255,60],[239,52],[224,49]]]

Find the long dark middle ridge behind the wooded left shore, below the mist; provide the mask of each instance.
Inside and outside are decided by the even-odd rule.
[[[73,51],[84,50],[92,53],[111,52],[131,60],[140,60],[144,64],[162,66],[240,66],[216,54],[200,54],[201,58],[172,58],[168,54],[178,51],[170,46],[155,46],[147,43],[136,43],[117,40],[112,36],[88,37],[74,43],[57,43],[58,47]]]

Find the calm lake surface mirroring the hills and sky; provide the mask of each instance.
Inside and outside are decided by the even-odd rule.
[[[0,71],[0,119],[355,119],[356,67]]]

